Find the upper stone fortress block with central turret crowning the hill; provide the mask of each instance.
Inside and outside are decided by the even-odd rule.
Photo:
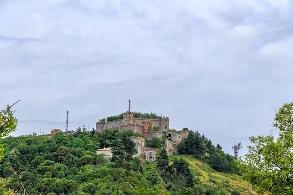
[[[130,100],[129,110],[123,113],[123,118],[110,122],[97,122],[96,131],[103,131],[106,129],[119,129],[127,130],[132,129],[134,132],[140,134],[148,133],[149,126],[158,127],[160,132],[167,131],[170,129],[169,118],[161,119],[150,119],[150,118],[135,118],[133,112],[130,111]]]

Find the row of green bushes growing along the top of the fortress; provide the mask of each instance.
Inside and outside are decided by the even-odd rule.
[[[133,111],[133,117],[134,118],[146,118],[146,119],[164,119],[165,117],[162,115],[157,115],[153,112],[151,113],[140,113],[140,112],[135,112]],[[100,122],[111,122],[111,121],[115,121],[115,120],[120,120],[123,118],[123,113],[119,114],[119,115],[113,115],[110,117],[106,117],[106,118],[102,118],[99,121]]]

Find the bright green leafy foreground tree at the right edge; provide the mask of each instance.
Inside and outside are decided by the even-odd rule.
[[[293,102],[283,104],[273,121],[279,137],[250,137],[253,146],[240,157],[238,167],[242,177],[258,194],[293,194]]]

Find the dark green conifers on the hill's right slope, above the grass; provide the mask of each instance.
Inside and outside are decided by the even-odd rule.
[[[197,159],[208,162],[216,171],[239,174],[239,170],[234,163],[235,157],[225,154],[219,144],[214,146],[211,140],[198,131],[189,131],[188,136],[178,144],[178,151],[179,154],[192,155]]]

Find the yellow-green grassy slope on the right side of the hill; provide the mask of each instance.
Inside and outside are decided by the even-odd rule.
[[[247,183],[236,174],[217,172],[212,169],[209,164],[201,162],[191,156],[173,155],[170,156],[170,161],[173,161],[175,158],[184,158],[187,160],[192,175],[198,177],[200,181],[205,184],[214,186],[219,185],[227,192],[227,194],[230,194],[233,189],[238,190],[242,195],[248,194]],[[251,190],[251,194],[256,193]]]

